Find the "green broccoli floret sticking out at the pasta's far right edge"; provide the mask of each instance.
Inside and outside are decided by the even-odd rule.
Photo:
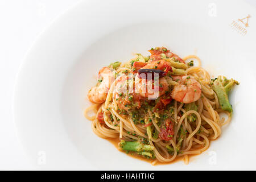
[[[239,82],[232,78],[228,80],[224,76],[218,76],[211,82],[212,89],[217,94],[218,102],[220,103],[221,109],[226,110],[232,114],[232,105],[229,103],[228,93],[234,85],[239,85]]]

